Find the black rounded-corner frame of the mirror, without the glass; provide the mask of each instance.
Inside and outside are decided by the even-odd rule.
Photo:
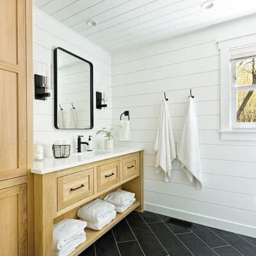
[[[86,63],[88,63],[90,65],[90,120],[91,120],[91,124],[90,124],[90,128],[83,128],[83,129],[60,129],[58,127],[58,55],[57,55],[57,51],[61,50],[64,52],[67,52],[68,54],[78,58],[79,60],[83,60]],[[93,65],[92,62],[85,60],[84,58],[81,58],[80,56],[77,56],[76,54],[69,52],[61,47],[57,47],[54,49],[54,127],[56,129],[59,130],[90,130],[93,129]]]

